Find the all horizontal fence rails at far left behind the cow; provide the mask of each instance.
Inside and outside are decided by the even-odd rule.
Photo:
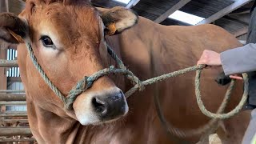
[[[1,60],[0,67],[18,67],[15,60]],[[1,79],[0,79],[1,81]],[[1,106],[26,106],[24,90],[0,90]],[[0,111],[1,142],[34,142],[26,111]]]

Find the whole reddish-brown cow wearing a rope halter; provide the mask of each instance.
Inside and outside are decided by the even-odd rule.
[[[31,39],[42,69],[66,95],[84,76],[114,65],[106,52],[103,30],[120,33],[136,21],[136,15],[123,8],[99,14],[88,2],[27,0],[19,18],[1,14],[0,26]],[[2,38],[14,42],[8,33]],[[202,50],[241,46],[218,26],[161,26],[146,18],[139,18],[136,26],[122,34],[107,37],[106,42],[142,80],[194,66]],[[30,128],[39,143],[178,143],[166,134],[158,119],[154,94],[160,98],[166,120],[182,130],[209,121],[195,101],[194,73],[147,86],[132,95],[127,100],[128,114],[122,91],[130,89],[130,82],[120,75],[105,76],[78,96],[74,110],[66,111],[35,69],[24,44],[18,45],[18,64],[26,87]],[[225,91],[214,82],[218,73],[205,70],[202,76],[203,101],[211,111],[218,109]],[[241,87],[234,92],[228,110],[238,104]],[[217,130],[222,142],[240,143],[248,120],[248,113],[226,120]],[[195,143],[199,137],[186,140]]]

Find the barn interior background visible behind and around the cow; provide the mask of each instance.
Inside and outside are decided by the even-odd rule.
[[[253,0],[92,0],[93,6],[124,6],[139,16],[166,26],[214,24],[246,43]],[[19,14],[26,0],[1,0],[0,12]],[[0,143],[34,142],[26,116],[17,51],[0,48]]]

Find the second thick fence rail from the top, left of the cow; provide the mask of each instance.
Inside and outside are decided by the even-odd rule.
[[[1,94],[0,93],[0,101],[26,101],[26,94]]]

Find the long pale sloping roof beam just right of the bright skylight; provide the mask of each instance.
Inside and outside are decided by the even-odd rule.
[[[226,8],[218,11],[218,13],[213,14],[209,18],[206,18],[206,19],[202,20],[201,22],[198,22],[197,25],[214,22],[217,19],[222,18],[224,15],[230,14],[230,12],[237,10],[239,7],[246,5],[250,1],[252,1],[252,0],[238,0],[234,3],[232,3],[230,6],[226,6]]]

